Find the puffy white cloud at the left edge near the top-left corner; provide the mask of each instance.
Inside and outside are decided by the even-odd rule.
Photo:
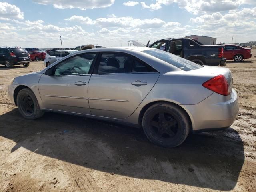
[[[10,20],[10,19],[24,19],[24,13],[20,11],[15,5],[11,5],[6,2],[0,2],[0,19]]]

